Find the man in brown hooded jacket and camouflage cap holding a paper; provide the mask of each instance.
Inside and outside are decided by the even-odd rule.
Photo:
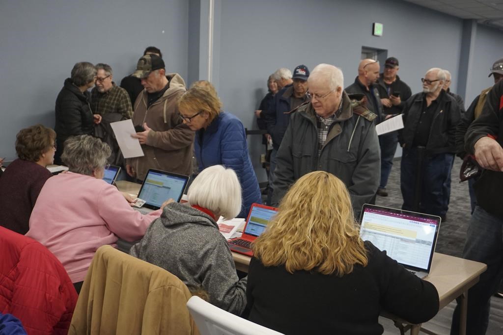
[[[183,124],[177,107],[184,80],[178,73],[166,74],[164,61],[154,54],[142,56],[132,75],[144,87],[134,103],[137,133],[132,136],[145,156],[127,159],[127,173],[140,180],[150,168],[190,175],[194,132]]]

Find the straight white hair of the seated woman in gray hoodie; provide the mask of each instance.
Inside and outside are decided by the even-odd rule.
[[[187,200],[191,205],[231,219],[241,210],[241,184],[234,170],[213,165],[194,179],[187,192]]]

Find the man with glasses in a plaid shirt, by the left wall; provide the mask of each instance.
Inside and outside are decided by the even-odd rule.
[[[108,64],[96,64],[97,74],[95,87],[91,90],[91,109],[102,117],[105,114],[117,113],[124,119],[131,119],[133,107],[126,90],[113,81],[112,67]]]

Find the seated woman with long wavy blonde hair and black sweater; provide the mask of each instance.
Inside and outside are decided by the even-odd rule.
[[[433,284],[362,241],[344,183],[301,177],[254,243],[248,319],[287,334],[381,334],[386,310],[413,323],[439,309]]]

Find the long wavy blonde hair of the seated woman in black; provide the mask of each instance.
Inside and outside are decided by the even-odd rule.
[[[284,264],[290,273],[314,270],[343,276],[355,264],[368,262],[348,190],[325,171],[297,180],[253,250],[265,266]]]

